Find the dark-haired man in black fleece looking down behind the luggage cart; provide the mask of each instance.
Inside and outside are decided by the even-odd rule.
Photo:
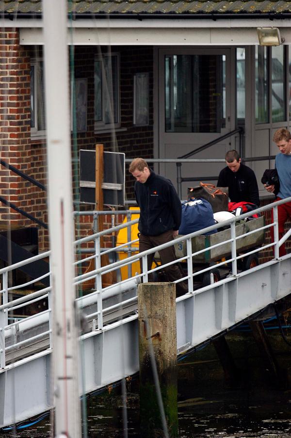
[[[237,151],[226,153],[227,166],[219,174],[217,187],[228,187],[230,202],[251,202],[259,207],[259,189],[255,173],[241,163]]]

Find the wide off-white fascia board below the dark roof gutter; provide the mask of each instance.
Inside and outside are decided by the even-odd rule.
[[[161,20],[163,21],[163,20]],[[204,20],[202,20],[204,21]],[[185,25],[185,21],[184,25]],[[175,20],[172,21],[172,24]],[[198,23],[198,22],[197,22]],[[252,23],[253,24],[253,23]],[[260,23],[262,25],[262,23]],[[259,27],[259,26],[258,26]],[[291,44],[291,27],[279,27],[284,44]],[[68,30],[68,44],[72,45],[150,45],[150,46],[181,46],[181,45],[216,45],[216,46],[245,46],[258,45],[257,26],[243,28],[189,28],[189,27],[139,27],[123,28],[74,28]],[[42,45],[43,32],[40,28],[20,29],[20,44]]]

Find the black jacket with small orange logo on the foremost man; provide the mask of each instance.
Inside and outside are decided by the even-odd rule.
[[[169,179],[151,170],[145,183],[135,182],[134,193],[141,210],[138,229],[142,234],[158,236],[170,229],[179,229],[181,201]]]

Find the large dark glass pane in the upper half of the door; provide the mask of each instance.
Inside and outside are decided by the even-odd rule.
[[[225,57],[165,56],[166,132],[220,132],[225,126]]]

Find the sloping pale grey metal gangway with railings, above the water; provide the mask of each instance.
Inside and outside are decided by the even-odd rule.
[[[138,315],[137,315],[137,285],[143,277],[147,281],[148,274],[161,269],[157,266],[147,271],[146,257],[153,251],[163,247],[184,243],[185,255],[178,261],[187,264],[187,273],[181,280],[188,281],[189,292],[177,298],[177,351],[178,354],[193,349],[207,339],[224,333],[241,321],[253,317],[272,303],[291,294],[291,254],[279,257],[279,247],[291,235],[291,229],[279,240],[277,206],[291,198],[275,202],[253,212],[233,217],[223,223],[196,231],[187,236],[178,237],[175,241],[161,245],[143,253],[101,267],[100,254],[117,252],[130,248],[136,243],[131,240],[124,245],[109,248],[100,252],[100,238],[122,228],[131,228],[137,220],[115,228],[104,230],[75,242],[75,247],[94,242],[93,255],[77,260],[75,266],[95,260],[96,269],[75,278],[75,287],[90,279],[95,280],[94,290],[76,299],[77,315],[79,317],[80,354],[80,395],[88,393],[116,382],[138,371]],[[274,221],[263,225],[259,230],[250,230],[238,235],[236,222],[252,215],[254,212],[265,214],[273,209]],[[193,252],[192,239],[214,228],[230,227],[230,238],[222,244],[230,244],[231,252],[226,260],[216,263],[220,268],[226,263],[231,265],[231,273],[218,282],[197,287],[195,276],[211,271],[213,266],[193,270],[193,259],[199,252],[211,249],[200,249]],[[250,250],[246,255],[255,254],[267,248],[274,248],[273,260],[259,264],[252,269],[240,272],[238,262],[242,255],[237,254],[240,239],[248,234],[274,228],[274,242],[263,244]],[[37,289],[44,278],[49,278],[48,272],[38,279],[33,279],[21,286],[13,286],[8,282],[10,273],[28,263],[49,258],[49,251],[32,257],[29,260],[16,263],[0,269],[2,276],[2,305],[0,305],[0,427],[25,420],[34,415],[53,408],[53,388],[51,382],[51,356],[53,351],[53,299],[52,284]],[[244,254],[245,255],[245,254]],[[128,275],[119,283],[102,288],[102,275],[130,266],[142,259],[143,274]],[[177,280],[181,281],[181,280]],[[8,301],[9,294],[17,288],[33,288],[27,295]],[[40,287],[40,286],[39,286]],[[72,287],[72,293],[73,293]],[[48,309],[36,315],[24,317],[21,320],[12,318],[12,312],[24,306],[29,306],[39,300],[48,300]]]

